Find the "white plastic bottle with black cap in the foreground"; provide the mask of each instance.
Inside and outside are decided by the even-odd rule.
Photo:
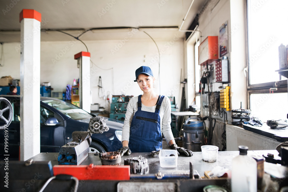
[[[232,159],[232,192],[256,192],[257,162],[247,156],[248,147],[238,147],[240,155]]]

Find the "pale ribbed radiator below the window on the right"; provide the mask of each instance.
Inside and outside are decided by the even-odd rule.
[[[241,127],[226,124],[227,151],[238,151],[239,145],[249,150],[275,150],[278,142],[274,139],[247,131]]]

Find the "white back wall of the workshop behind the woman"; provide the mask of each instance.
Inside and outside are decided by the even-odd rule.
[[[97,65],[91,63],[90,68],[92,103],[100,103],[100,106],[105,107],[106,101],[98,97],[99,76],[102,78],[106,98],[109,92],[114,95],[119,95],[121,92],[134,96],[142,94],[143,92],[134,82],[135,70],[142,65],[151,67],[157,80],[156,92],[175,96],[176,102],[179,103],[181,68],[184,74],[183,39],[155,40],[160,50],[160,78],[158,50],[154,42],[151,39],[128,39],[128,41],[123,39],[84,42],[91,53],[92,62]],[[0,67],[0,77],[11,75],[15,79],[20,79],[20,50],[17,52],[16,47],[19,47],[19,43],[3,45],[4,58],[1,63],[3,66]],[[72,37],[69,42],[41,42],[40,82],[51,82],[53,92],[66,91],[66,85],[72,85],[73,79],[79,78],[74,54],[81,51],[86,51],[85,46]],[[113,70],[109,70],[111,68]]]

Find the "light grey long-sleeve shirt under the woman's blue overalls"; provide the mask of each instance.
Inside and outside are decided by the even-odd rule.
[[[130,137],[130,126],[132,119],[134,117],[134,114],[136,111],[138,111],[137,107],[137,102],[138,102],[138,96],[132,97],[127,105],[127,112],[125,115],[125,120],[124,120],[124,125],[122,128],[122,141],[129,141]],[[146,107],[145,105],[142,104],[141,110],[142,111],[148,111],[148,112],[155,112],[156,105],[153,107]],[[163,102],[160,107],[159,111],[160,115],[160,128],[161,132],[164,135],[167,143],[169,143],[170,140],[174,140],[174,136],[172,134],[171,130],[171,103],[170,100],[167,96],[164,97]]]

